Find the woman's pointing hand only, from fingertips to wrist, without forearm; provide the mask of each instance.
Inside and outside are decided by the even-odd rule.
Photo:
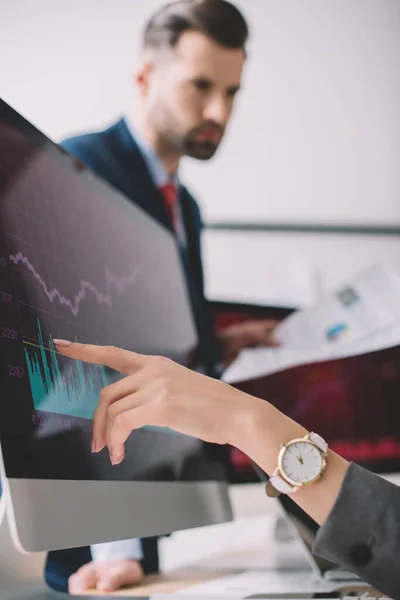
[[[145,425],[169,427],[217,444],[241,447],[243,424],[253,405],[265,404],[221,381],[173,361],[113,346],[54,340],[70,358],[105,365],[126,377],[103,388],[93,419],[92,451],[108,446],[113,464],[124,458],[131,431]]]

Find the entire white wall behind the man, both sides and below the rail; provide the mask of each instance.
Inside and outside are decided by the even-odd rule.
[[[0,95],[55,139],[106,125],[129,108],[140,31],[161,3],[2,0]],[[218,157],[183,168],[206,218],[400,225],[399,0],[237,4],[252,29],[244,90]],[[219,296],[236,275],[221,239],[206,240]],[[298,236],[272,239],[259,246],[263,263],[271,252],[275,263],[311,261],[323,286],[368,264],[378,243],[363,251],[357,238],[353,252],[313,237],[311,252]],[[248,267],[254,244],[239,245],[249,294],[260,280]],[[394,244],[382,238],[379,256]]]

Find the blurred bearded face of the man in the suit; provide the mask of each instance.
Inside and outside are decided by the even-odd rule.
[[[245,55],[185,32],[143,75],[142,95],[161,152],[211,158],[239,90]]]

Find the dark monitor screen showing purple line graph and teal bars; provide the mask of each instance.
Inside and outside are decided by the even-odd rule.
[[[214,477],[204,444],[131,435],[112,467],[90,453],[102,387],[119,374],[63,358],[53,338],[187,364],[197,333],[173,235],[0,104],[1,443],[8,477]],[[189,461],[189,463],[188,463]]]

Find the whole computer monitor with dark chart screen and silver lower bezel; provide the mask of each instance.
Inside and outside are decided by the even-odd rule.
[[[74,547],[232,518],[207,445],[145,427],[112,466],[91,419],[113,371],[53,338],[187,364],[198,344],[173,235],[0,101],[0,441],[14,542]]]

